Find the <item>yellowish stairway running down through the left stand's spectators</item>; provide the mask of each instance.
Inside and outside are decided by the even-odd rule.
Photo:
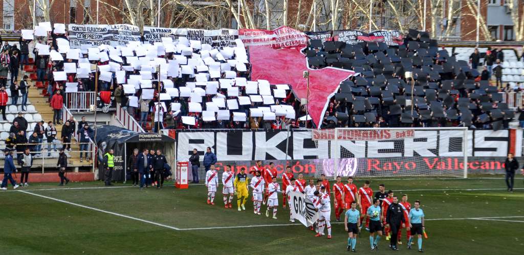
[[[34,64],[33,59],[29,59],[30,64]],[[47,94],[47,82],[46,83],[40,83],[37,82],[36,77],[36,65],[27,65],[24,66],[24,71],[20,72],[18,80],[20,80],[24,75],[29,76],[29,80],[32,83],[32,86],[29,88],[29,95],[28,95],[28,101],[31,102],[31,105],[35,107],[35,110],[41,115],[41,119],[45,122],[45,126],[47,126],[47,123],[49,121],[53,120],[53,110],[49,106],[49,94]],[[21,99],[19,99],[19,102]],[[64,120],[62,120],[63,123]],[[78,122],[77,122],[78,125]],[[57,124],[57,138],[61,141],[61,134],[62,134],[62,125]],[[28,132],[32,133],[32,129]],[[44,136],[44,140],[45,136]],[[71,138],[71,143],[77,142],[74,138],[74,136]],[[60,148],[62,145],[58,145],[57,149]],[[87,170],[88,168],[92,166],[92,161],[86,161],[83,160],[80,161],[80,145],[78,144],[72,144],[71,145],[72,151],[69,152],[68,156],[68,165],[70,167],[70,170],[73,171],[79,171],[79,167],[82,167],[83,169]],[[45,156],[47,156],[47,145],[42,145],[42,150],[45,151]],[[57,164],[57,154],[52,154],[51,158],[46,157],[44,160],[44,167],[45,168],[56,168]],[[41,168],[41,158],[35,158],[33,165],[38,166],[37,168]],[[92,160],[92,159],[91,159]],[[16,160],[15,160],[16,164]],[[3,158],[0,159],[0,165],[4,165]],[[35,170],[35,169],[34,169]]]

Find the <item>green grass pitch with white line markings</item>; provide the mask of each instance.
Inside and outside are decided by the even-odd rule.
[[[522,254],[522,179],[516,180],[515,193],[509,193],[501,176],[472,177],[372,179],[371,187],[376,191],[379,183],[385,183],[386,190],[408,194],[411,204],[422,201],[429,235],[423,249],[428,254]],[[363,181],[357,178],[357,187]],[[289,211],[281,204],[278,219],[266,218],[264,205],[263,215],[254,215],[250,201],[243,212],[236,210],[236,201],[232,209],[224,208],[222,186],[214,206],[205,203],[202,184],[186,190],[175,189],[172,183],[161,190],[140,191],[129,183],[116,187],[106,189],[102,182],[70,183],[63,188],[41,183],[12,191],[9,186],[9,191],[0,192],[0,253],[348,253],[347,233],[343,224],[334,221],[333,206],[333,239],[328,240],[314,237],[314,231],[302,225],[289,225]],[[416,249],[407,250],[405,234],[402,241],[398,252],[388,249],[385,238],[378,251],[371,251],[368,233],[363,231],[356,248],[359,254],[418,254]]]

